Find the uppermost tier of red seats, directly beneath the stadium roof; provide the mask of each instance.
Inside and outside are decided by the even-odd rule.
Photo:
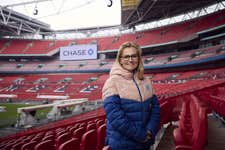
[[[132,34],[123,34],[116,37],[104,38],[86,38],[77,40],[16,40],[5,42],[0,41],[0,53],[3,54],[47,54],[56,47],[62,47],[69,44],[89,44],[97,43],[99,50],[117,49],[124,41],[136,41],[142,46],[151,44],[166,43],[170,41],[179,41],[184,38],[193,36],[200,31],[223,25],[225,19],[221,16],[224,11],[214,13],[212,15],[203,16],[195,19],[176,23],[170,26],[156,28],[154,30],[142,31]],[[19,51],[17,49],[19,45]]]

